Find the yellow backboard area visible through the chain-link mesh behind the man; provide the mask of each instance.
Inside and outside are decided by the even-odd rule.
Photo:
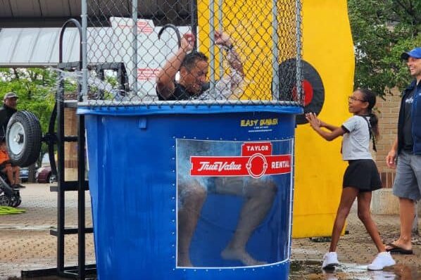
[[[209,0],[198,1],[199,46],[209,55],[210,9]],[[218,29],[218,1],[215,3],[215,29]],[[279,63],[296,57],[295,1],[277,1],[279,22]],[[222,6],[223,30],[230,34],[236,51],[241,56],[246,75],[242,99],[272,99],[272,1],[225,0]],[[215,47],[218,65],[218,51]],[[225,68],[226,65],[225,65]],[[215,79],[218,79],[216,75]]]

